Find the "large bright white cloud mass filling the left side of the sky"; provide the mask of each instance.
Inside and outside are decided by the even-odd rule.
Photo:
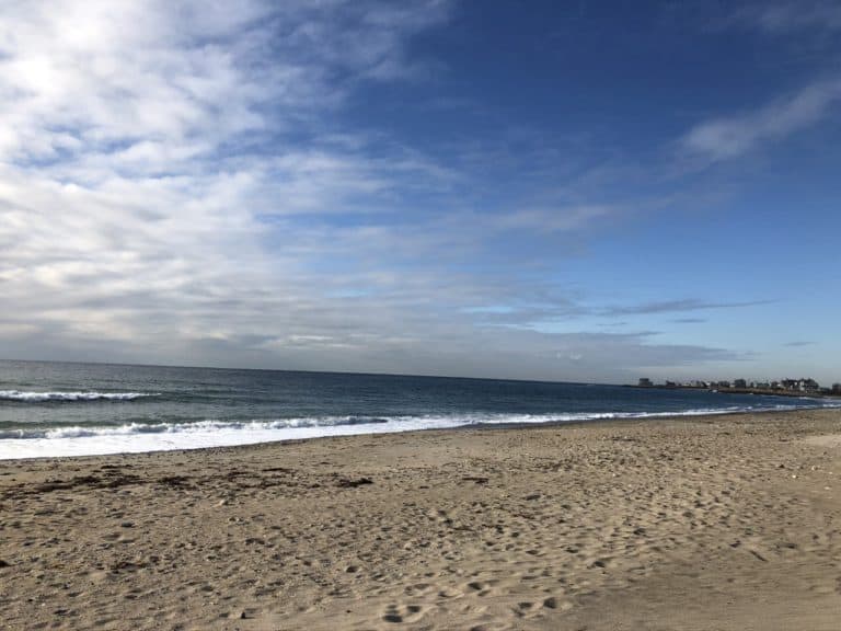
[[[343,95],[334,79],[346,90],[387,60],[399,74],[405,36],[445,12],[441,2],[5,4],[3,331],[24,319],[139,343],[265,334],[266,302],[287,309],[312,291],[298,280],[297,234],[286,246],[264,216],[336,211],[390,185],[381,163],[318,137]],[[315,136],[312,147],[288,142],[291,127]],[[212,322],[226,301],[239,310]]]

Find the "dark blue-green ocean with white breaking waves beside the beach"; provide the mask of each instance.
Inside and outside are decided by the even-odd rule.
[[[0,362],[0,459],[827,406],[839,402],[494,379]]]

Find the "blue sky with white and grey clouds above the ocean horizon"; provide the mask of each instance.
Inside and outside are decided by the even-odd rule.
[[[0,2],[0,357],[841,381],[841,4]]]

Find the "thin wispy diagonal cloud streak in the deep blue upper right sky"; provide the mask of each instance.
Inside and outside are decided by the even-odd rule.
[[[756,111],[700,123],[687,133],[681,145],[690,156],[711,162],[737,158],[817,124],[833,112],[839,101],[841,79],[821,79]]]

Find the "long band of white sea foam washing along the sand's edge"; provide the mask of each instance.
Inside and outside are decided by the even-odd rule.
[[[827,402],[819,406],[839,406]],[[780,404],[770,410],[793,410],[798,405]],[[207,420],[196,423],[131,423],[115,426],[65,426],[54,428],[0,429],[0,460],[59,456],[93,456],[172,449],[198,449],[342,436],[383,434],[414,429],[447,429],[476,425],[533,425],[573,423],[612,418],[647,418],[731,414],[769,408],[699,409],[683,412],[599,412],[575,414],[460,414],[395,417],[324,416],[227,422]]]

